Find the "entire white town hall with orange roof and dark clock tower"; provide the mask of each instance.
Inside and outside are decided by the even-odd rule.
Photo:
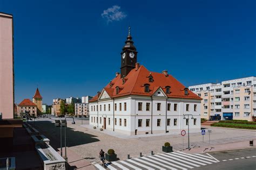
[[[130,33],[125,43],[121,73],[89,101],[90,125],[134,135],[177,134],[189,123],[191,132],[199,132],[201,98],[166,70],[140,66]],[[184,119],[184,114],[192,117]]]

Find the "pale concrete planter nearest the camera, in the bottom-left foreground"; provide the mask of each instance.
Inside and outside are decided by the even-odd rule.
[[[66,161],[62,158],[58,152],[56,152],[50,145],[41,144],[36,146],[37,153],[41,158],[44,165],[44,170],[48,169],[66,169]]]

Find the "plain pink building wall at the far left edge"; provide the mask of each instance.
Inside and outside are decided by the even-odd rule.
[[[14,118],[14,57],[12,15],[0,12],[0,112]]]

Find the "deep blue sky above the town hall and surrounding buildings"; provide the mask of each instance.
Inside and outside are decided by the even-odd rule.
[[[146,3],[145,3],[146,2]],[[138,62],[185,86],[256,74],[255,1],[12,1],[15,101],[95,95],[120,72],[131,25]],[[105,12],[104,12],[105,10]]]

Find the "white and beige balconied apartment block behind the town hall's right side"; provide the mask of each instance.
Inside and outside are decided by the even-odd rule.
[[[203,98],[201,118],[256,122],[256,77],[190,86]]]

